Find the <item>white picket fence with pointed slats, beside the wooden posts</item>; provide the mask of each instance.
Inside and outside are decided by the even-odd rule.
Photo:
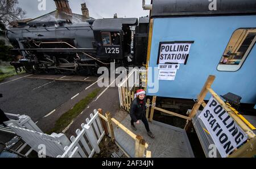
[[[105,135],[102,128],[98,112],[94,110],[94,115],[90,114],[90,120],[86,119],[86,124],[81,124],[82,130],[77,129],[77,136],[71,136],[71,145],[64,148],[65,152],[57,158],[90,158],[93,154],[100,153],[98,144]]]

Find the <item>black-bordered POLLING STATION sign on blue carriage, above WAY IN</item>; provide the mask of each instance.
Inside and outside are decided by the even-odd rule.
[[[160,42],[158,64],[187,64],[193,41]]]

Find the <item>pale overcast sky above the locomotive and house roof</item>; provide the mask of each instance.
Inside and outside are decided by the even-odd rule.
[[[46,1],[46,10],[38,10],[38,5],[44,0],[18,0],[18,6],[27,12],[25,18],[36,18],[56,10],[53,0]],[[89,15],[93,18],[113,18],[114,14],[120,18],[139,18],[149,15],[149,10],[142,9],[142,0],[69,0],[69,6],[75,14],[82,14],[81,3],[86,2]],[[150,0],[146,0],[150,4]]]

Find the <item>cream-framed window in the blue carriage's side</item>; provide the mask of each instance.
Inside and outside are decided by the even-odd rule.
[[[229,40],[218,64],[219,71],[237,71],[242,66],[256,41],[256,28],[237,29]]]

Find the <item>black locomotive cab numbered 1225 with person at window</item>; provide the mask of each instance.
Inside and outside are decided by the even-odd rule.
[[[97,19],[93,23],[94,48],[98,57],[113,60],[131,59],[131,29],[137,26],[137,18]],[[129,61],[127,59],[127,61]]]

